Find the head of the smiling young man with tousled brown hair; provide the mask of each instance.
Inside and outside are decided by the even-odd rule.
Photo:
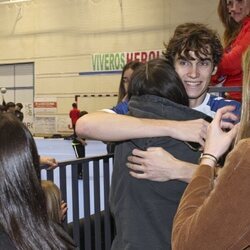
[[[218,34],[206,25],[185,23],[176,28],[165,46],[164,55],[182,80],[189,106],[201,105],[223,53]]]

